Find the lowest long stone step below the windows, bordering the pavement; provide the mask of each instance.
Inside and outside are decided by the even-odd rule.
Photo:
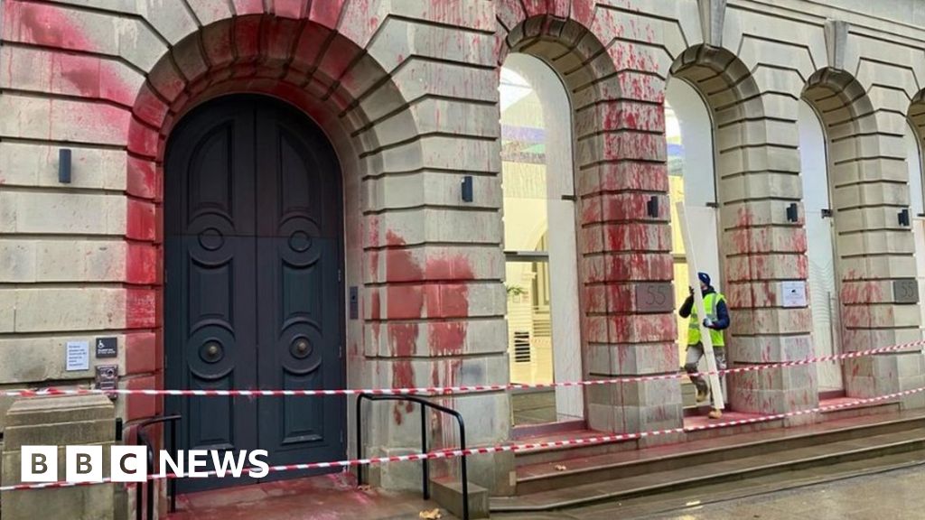
[[[571,491],[583,486],[599,487],[602,482],[629,482],[626,479],[660,475],[663,484],[672,485],[678,480],[673,472],[684,472],[691,467],[730,469],[729,465],[774,463],[787,460],[793,453],[814,450],[825,452],[853,448],[852,443],[879,440],[883,446],[889,444],[891,435],[906,435],[913,431],[919,438],[925,437],[925,412],[903,412],[890,415],[829,421],[807,427],[792,427],[761,433],[745,433],[722,439],[697,440],[684,444],[658,446],[633,452],[617,452],[588,457],[561,460],[556,463],[529,464],[517,469],[517,494],[523,499],[540,500],[544,494],[555,495],[561,489]],[[877,447],[880,444],[870,444]],[[745,462],[743,462],[745,461]],[[759,464],[761,463],[761,464]],[[616,486],[614,489],[620,489]],[[599,494],[599,493],[598,493]],[[595,493],[592,493],[594,496]],[[492,499],[493,504],[502,506],[506,501],[517,499]],[[548,497],[551,500],[551,497]],[[493,506],[494,507],[494,506]]]

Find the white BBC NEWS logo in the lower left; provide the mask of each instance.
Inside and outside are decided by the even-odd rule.
[[[178,477],[235,477],[247,475],[263,478],[270,472],[265,459],[265,450],[253,452],[224,452],[218,450],[180,450],[176,456],[161,450],[158,452],[158,465],[161,473],[157,476],[176,475]],[[103,446],[66,446],[65,480],[68,482],[103,482],[103,469],[106,466]],[[207,470],[208,467],[213,469]],[[148,477],[147,451],[144,446],[110,446],[109,447],[110,482],[144,482]],[[23,482],[57,482],[58,481],[58,447],[57,446],[23,446],[20,465]]]

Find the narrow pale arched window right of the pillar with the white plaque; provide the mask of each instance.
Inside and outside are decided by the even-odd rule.
[[[800,180],[806,216],[808,255],[808,296],[812,313],[812,341],[817,356],[840,352],[838,281],[835,269],[835,230],[822,122],[806,101],[800,100],[799,127]],[[820,363],[819,391],[845,389],[842,368],[837,362]]]

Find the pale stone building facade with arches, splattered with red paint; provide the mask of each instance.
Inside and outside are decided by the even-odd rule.
[[[304,359],[328,368],[317,379],[300,379],[314,365],[286,368],[273,380],[289,388],[507,383],[498,88],[499,68],[512,53],[544,60],[571,98],[586,378],[665,374],[681,363],[673,309],[642,311],[635,296],[650,287],[644,284],[686,283],[674,280],[672,270],[663,107],[672,79],[693,86],[712,118],[722,279],[735,316],[727,340],[731,361],[783,363],[813,353],[811,309],[784,306],[780,284],[808,279],[796,124],[801,100],[819,115],[827,140],[840,350],[921,339],[918,297],[895,293],[917,279],[917,254],[925,254],[912,231],[917,216],[911,223],[897,217],[911,197],[921,196],[909,189],[903,142],[907,121],[919,141],[925,135],[925,5],[915,0],[0,4],[5,388],[92,383],[93,366],[111,360],[92,353],[89,370],[68,371],[65,345],[93,344],[100,336],[117,338],[119,385],[129,389],[177,388],[173,383],[188,380],[170,373],[185,370],[171,368],[178,359],[199,364],[191,368],[196,374],[230,359],[225,368],[241,374],[263,363],[260,352],[284,368]],[[265,137],[234,130],[226,136],[231,141],[216,145],[218,152],[206,149],[203,129],[219,131],[219,118],[227,118],[229,128],[251,124],[235,119],[233,109],[221,112],[222,99],[241,94],[255,96],[233,99],[256,106],[254,117],[269,121],[266,128],[289,118],[282,115],[288,110],[308,119],[286,128],[314,136],[296,144],[287,141],[291,135],[279,137],[266,145],[277,155],[259,168],[285,169],[292,160],[322,172],[313,177],[322,198],[291,203],[293,215],[308,212],[291,218],[287,197],[302,184],[287,183],[285,172],[277,176],[276,192],[260,195],[270,205],[258,201],[253,216],[259,221],[279,204],[281,217],[270,224],[277,228],[264,235],[235,221],[235,204],[246,196],[245,178],[253,172],[239,172],[242,178],[226,179],[220,189],[216,184],[226,180],[194,181],[203,169],[234,170],[228,164],[240,159],[221,161]],[[181,131],[192,141],[172,140]],[[196,139],[202,145],[190,146]],[[69,182],[59,180],[60,149],[71,151]],[[187,150],[185,166],[171,166],[177,150]],[[461,185],[469,181],[466,201]],[[655,215],[648,211],[653,199]],[[312,216],[312,204],[322,201],[333,204],[334,220],[324,226]],[[218,217],[193,222],[191,204]],[[788,219],[792,204],[796,221]],[[171,223],[183,211],[189,218]],[[303,221],[310,223],[298,224]],[[223,249],[246,240],[246,247]],[[275,254],[283,265],[299,267],[290,269],[292,287],[309,291],[324,281],[334,283],[334,292],[318,302],[327,317],[313,315],[318,307],[300,310],[293,303],[269,353],[254,350],[260,341],[227,330],[245,327],[229,316],[257,313],[264,297],[270,307],[298,300],[285,288],[254,296],[250,307],[248,298],[230,295],[262,269],[276,269],[255,258],[277,246],[320,248],[314,254],[330,262],[329,269],[307,278],[299,268],[314,260]],[[219,268],[227,258],[197,260],[211,269],[199,275],[182,260],[179,271],[168,269],[172,251],[199,247],[203,258],[230,255],[235,265],[251,266],[251,274],[242,275],[251,278],[222,279],[230,276]],[[179,290],[171,293],[171,284]],[[236,289],[222,292],[228,287]],[[203,330],[226,332],[197,336],[189,316]],[[312,320],[328,320],[327,328]],[[312,322],[308,332],[290,333],[290,325],[303,322]],[[179,323],[190,328],[178,331]],[[234,385],[228,370],[200,374],[201,388]],[[925,364],[916,352],[888,353],[845,362],[844,376],[846,395],[868,397],[922,387]],[[259,384],[247,381],[242,384]],[[812,366],[736,375],[728,385],[730,406],[741,412],[778,414],[819,403]],[[508,392],[440,399],[465,416],[469,444],[512,439]],[[352,452],[352,408],[332,402],[337,410],[330,415],[291,406],[336,422],[343,437],[327,453],[342,458]],[[905,403],[925,405],[920,395]],[[141,395],[117,400],[129,425],[172,406],[184,405]],[[255,408],[238,410],[245,422],[256,422],[246,420],[257,417]],[[376,403],[368,417],[367,454],[417,450],[413,408]],[[596,388],[586,393],[585,417],[588,427],[603,431],[680,427],[681,382]],[[236,427],[248,428],[213,433],[220,438]],[[453,423],[434,420],[429,428],[438,445],[456,442]],[[486,455],[475,465],[475,480],[496,493],[510,491],[512,456]],[[393,464],[378,468],[376,477],[386,486],[413,485],[413,471]]]

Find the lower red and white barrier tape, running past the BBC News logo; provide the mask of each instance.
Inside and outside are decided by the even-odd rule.
[[[568,439],[568,440],[553,440],[549,442],[530,442],[526,444],[506,444],[506,445],[496,445],[496,446],[486,446],[483,448],[469,448],[466,450],[460,449],[450,449],[450,450],[440,450],[437,452],[426,452],[426,453],[411,453],[408,455],[393,455],[389,457],[372,457],[368,459],[348,459],[343,461],[335,461],[329,463],[307,463],[307,464],[284,464],[284,465],[273,465],[269,466],[270,472],[284,472],[284,471],[300,471],[307,469],[326,469],[332,467],[353,467],[358,465],[369,465],[369,464],[388,464],[388,463],[401,463],[409,461],[422,461],[422,460],[431,460],[431,459],[451,459],[456,457],[462,457],[463,455],[479,455],[485,453],[498,453],[498,452],[538,452],[542,450],[549,450],[553,448],[561,448],[563,446],[576,446],[576,445],[595,445],[595,444],[607,444],[610,442],[619,442],[621,440],[635,440],[643,439],[646,437],[656,437],[660,435],[671,435],[677,433],[685,433],[690,431],[701,431],[708,429],[716,429],[722,427],[734,427],[741,425],[750,425],[765,423],[768,421],[775,421],[778,419],[784,419],[787,417],[796,417],[798,415],[809,415],[816,414],[820,412],[831,412],[833,410],[840,410],[843,408],[851,408],[853,406],[858,406],[861,404],[870,404],[872,402],[882,402],[890,399],[897,399],[900,397],[907,397],[909,395],[917,394],[919,392],[925,391],[925,387],[912,390],[897,391],[894,393],[881,395],[877,397],[869,398],[858,398],[851,402],[840,402],[838,404],[829,404],[826,406],[817,406],[816,408],[810,408],[807,410],[797,410],[795,412],[786,412],[783,414],[774,414],[774,415],[759,415],[755,417],[746,417],[744,419],[733,419],[726,421],[717,421],[710,422],[702,425],[697,425],[693,427],[673,427],[660,430],[652,431],[643,431],[638,433],[617,433],[613,435],[601,435],[598,437],[586,437],[583,439]],[[256,470],[257,468],[245,468],[243,471],[249,473]],[[213,476],[216,474],[215,471],[205,472],[206,475]],[[166,478],[182,478],[182,476],[174,474],[158,474],[148,477],[151,480],[161,480]],[[0,487],[0,491],[18,491],[26,489],[54,489],[54,488],[73,488],[76,486],[91,486],[95,484],[107,484],[111,483],[110,478],[104,478],[102,481],[97,482],[45,482],[39,484],[17,484],[13,486],[3,486]]]

